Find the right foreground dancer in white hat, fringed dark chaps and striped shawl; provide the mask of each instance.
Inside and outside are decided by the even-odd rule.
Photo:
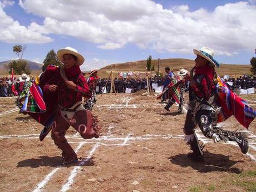
[[[240,147],[240,150],[246,154],[248,151],[248,140],[245,139],[240,132],[235,131],[225,131],[218,126],[216,122],[220,121],[218,118],[222,115],[227,119],[229,116],[234,115],[240,124],[248,128],[250,122],[255,118],[256,113],[247,105],[245,101],[242,101],[239,97],[232,94],[228,87],[221,82],[220,78],[216,74],[216,67],[219,67],[219,62],[215,61],[213,56],[214,52],[208,47],[202,47],[200,50],[195,50],[195,67],[190,72],[190,84],[189,84],[189,109],[186,114],[186,120],[184,125],[185,141],[190,145],[193,152],[189,152],[188,156],[196,161],[203,161],[203,149],[199,145],[198,138],[196,137],[194,129],[196,125],[199,125],[200,130],[203,134],[213,139],[215,142],[220,140],[224,141],[236,141]],[[215,82],[214,79],[218,82]],[[219,84],[222,86],[218,86]],[[214,94],[213,87],[216,88],[216,93]],[[222,90],[221,90],[222,88]],[[219,94],[230,93],[229,96],[233,97],[233,101],[237,102],[235,105],[240,105],[240,116],[243,116],[242,122],[237,116],[235,111],[235,106],[225,107],[227,102],[221,103],[221,97]],[[219,101],[219,102],[217,102]],[[215,108],[215,104],[221,106],[221,112],[219,109]],[[237,109],[236,109],[237,110]],[[218,114],[219,113],[219,114]],[[224,119],[223,119],[224,120]]]

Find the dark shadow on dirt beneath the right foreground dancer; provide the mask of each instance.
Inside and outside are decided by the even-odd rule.
[[[204,162],[199,163],[191,160],[186,154],[179,154],[168,157],[170,162],[176,165],[180,165],[183,168],[190,166],[191,168],[198,170],[200,173],[208,173],[211,171],[224,171],[229,173],[242,173],[238,168],[232,168],[233,165],[244,162],[230,160],[229,156],[222,154],[212,154],[209,151],[204,152]]]

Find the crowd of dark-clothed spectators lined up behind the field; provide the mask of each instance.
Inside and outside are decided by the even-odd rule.
[[[229,88],[233,91],[236,91],[238,89],[248,89],[248,88],[256,88],[256,76],[249,76],[249,75],[243,75],[238,78],[223,78],[223,80],[227,83]],[[33,78],[31,79],[33,81]],[[152,87],[152,83],[156,83],[157,86],[165,86],[165,77],[150,77],[149,83],[150,87]],[[24,82],[21,81],[19,78],[14,77],[14,81],[11,81],[11,78],[5,77],[0,78],[0,97],[11,97],[11,96],[17,96],[20,95]],[[14,85],[14,88],[13,86]],[[96,93],[102,93],[102,90],[106,86],[106,92],[110,93],[111,90],[111,78],[101,78],[98,80],[97,83],[97,90]],[[131,92],[136,92],[140,90],[146,90],[147,89],[147,81],[146,78],[115,78],[114,79],[114,86],[117,93],[124,93],[126,88],[131,88]],[[154,91],[154,90],[153,90]],[[114,90],[113,90],[114,92]]]

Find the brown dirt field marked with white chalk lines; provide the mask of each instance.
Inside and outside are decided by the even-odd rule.
[[[136,96],[137,95],[137,96]],[[256,191],[256,120],[247,132],[248,154],[230,142],[205,144],[205,162],[186,155],[186,114],[166,112],[155,96],[97,96],[93,114],[103,136],[83,140],[70,127],[67,139],[83,165],[61,165],[61,151],[42,126],[18,114],[13,98],[0,98],[0,191]],[[255,94],[247,96],[256,109]],[[224,129],[242,130],[233,117]]]

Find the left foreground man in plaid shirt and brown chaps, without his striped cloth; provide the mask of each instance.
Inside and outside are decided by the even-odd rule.
[[[83,139],[90,139],[100,136],[101,127],[97,126],[91,112],[81,105],[82,97],[91,97],[80,70],[85,58],[72,47],[58,50],[57,57],[63,63],[63,68],[57,68],[55,75],[43,86],[43,93],[47,96],[57,92],[58,108],[51,126],[52,139],[62,150],[63,163],[76,163],[76,152],[65,138],[67,129],[71,125]]]

